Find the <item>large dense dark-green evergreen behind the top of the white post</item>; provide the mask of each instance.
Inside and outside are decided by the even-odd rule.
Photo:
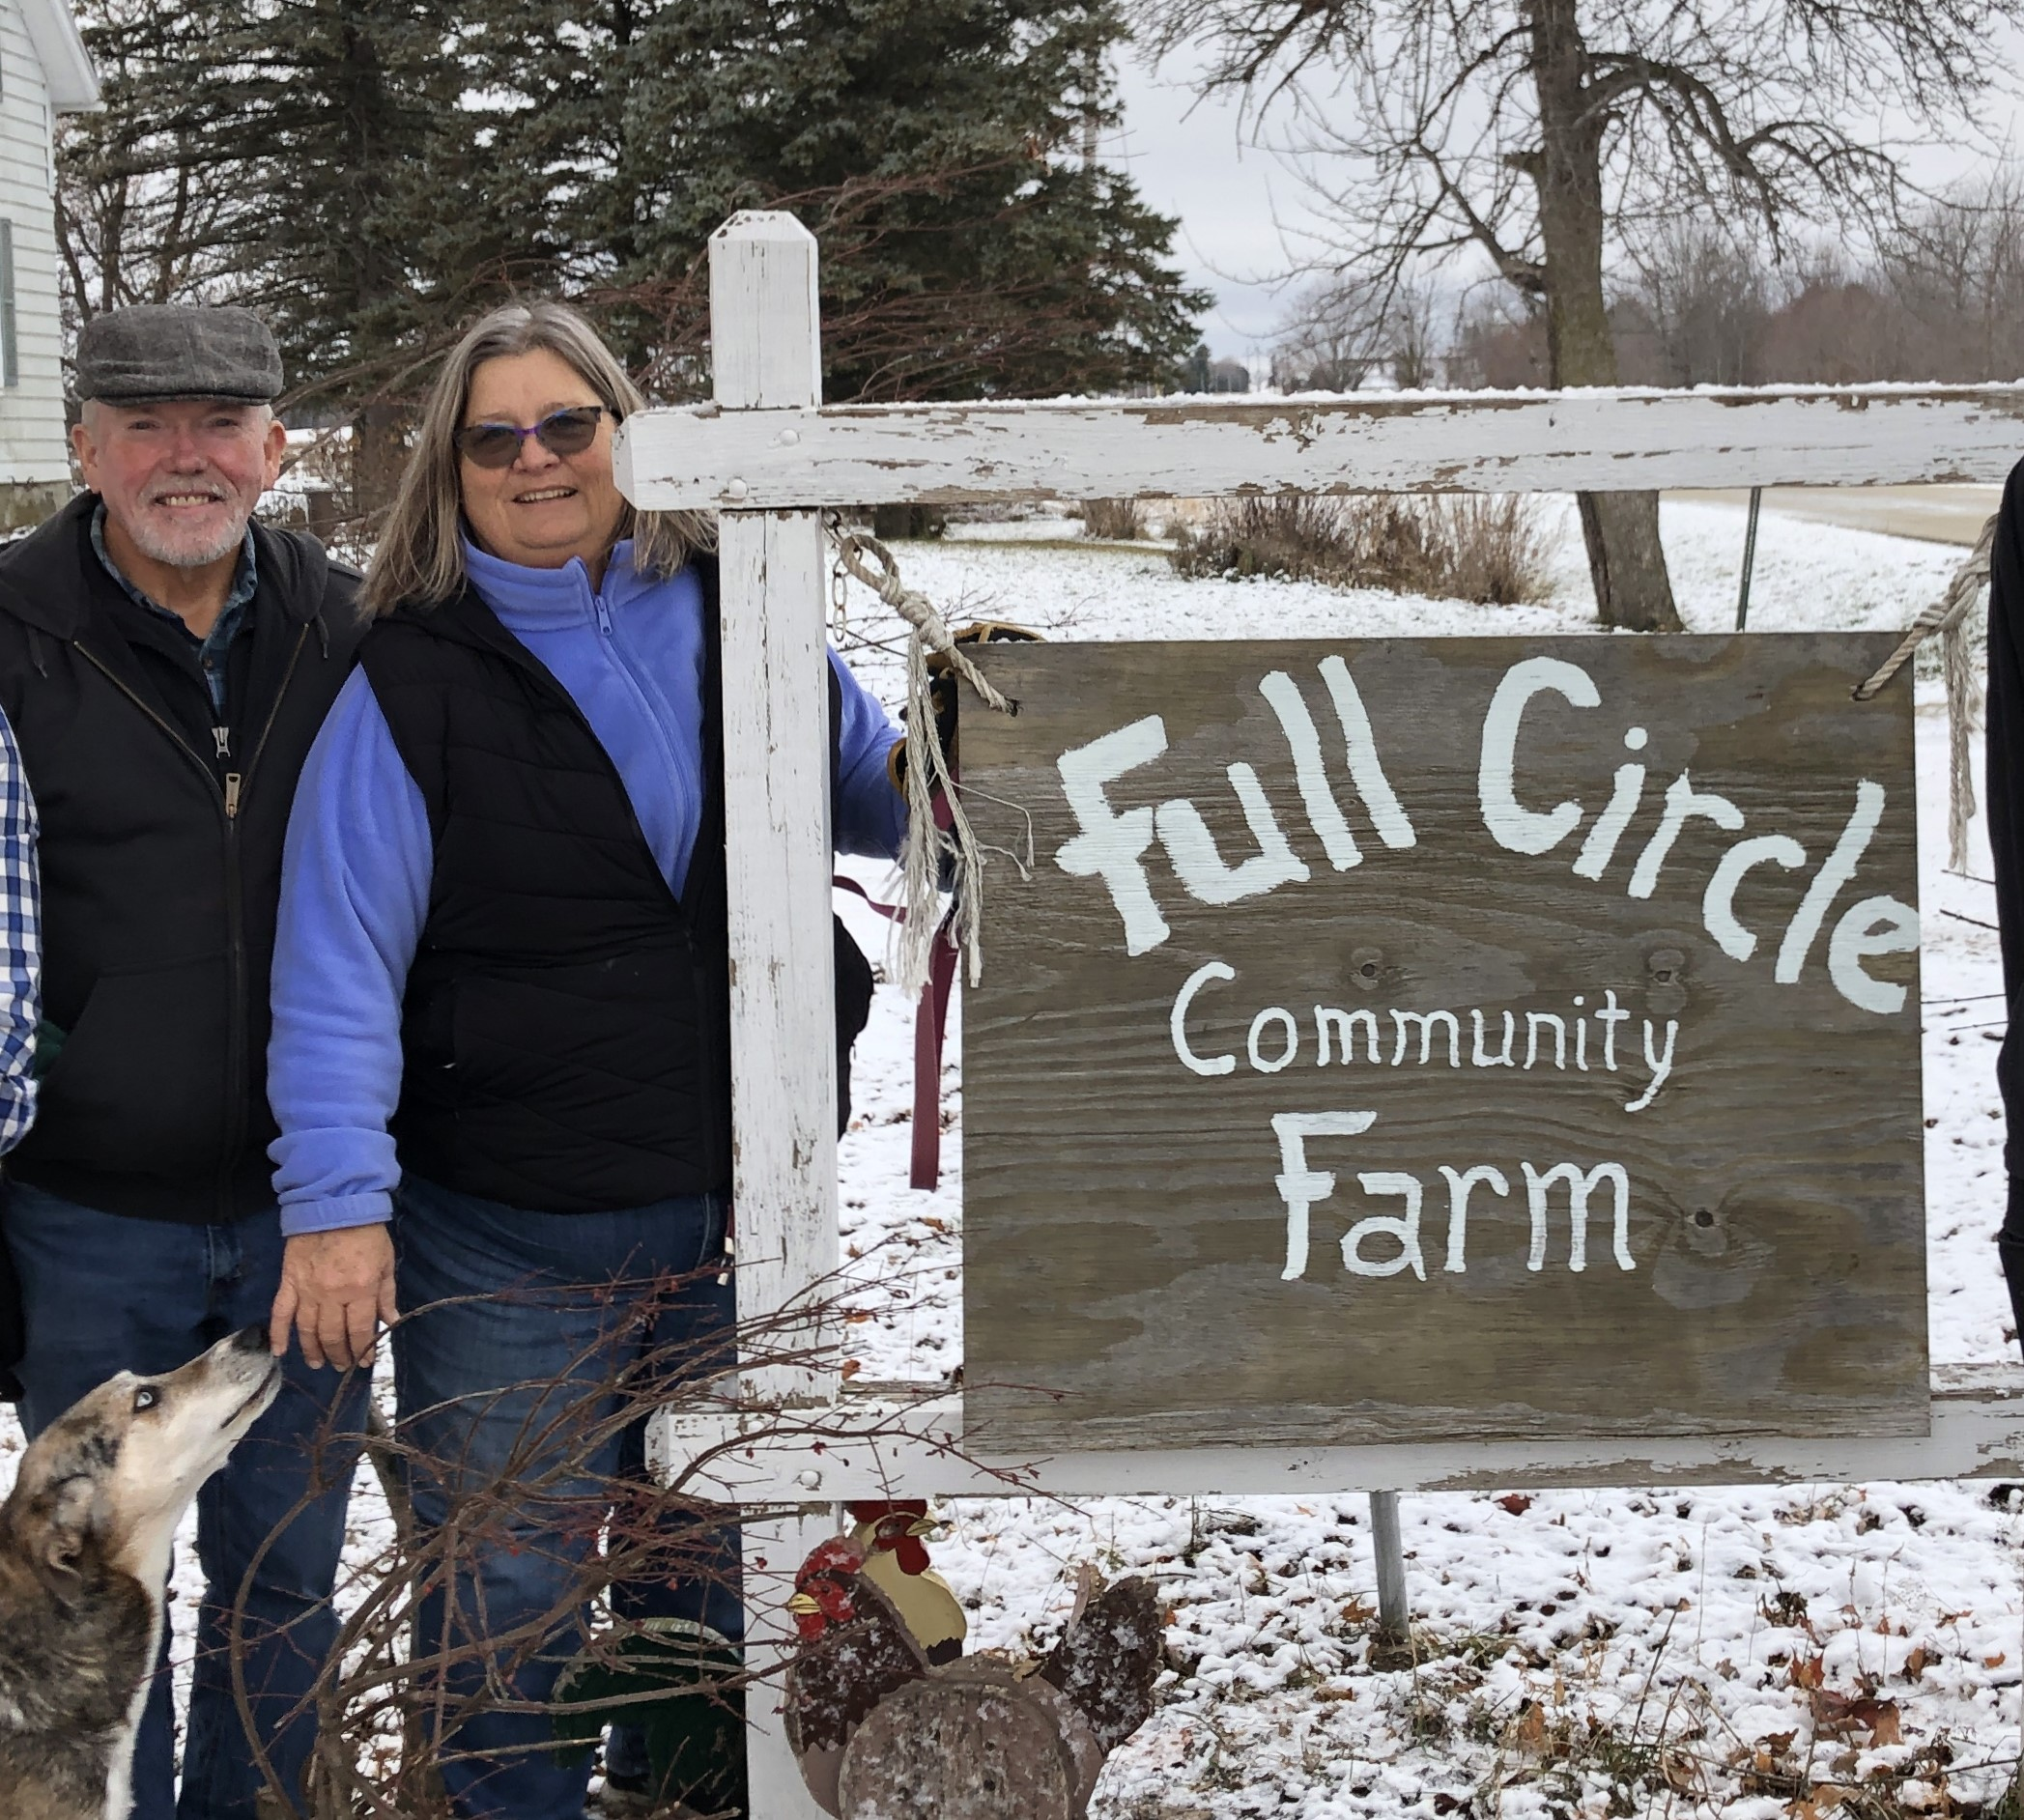
[[[1174,223],[1089,156],[1107,6],[490,4],[466,45],[514,202],[662,391],[696,383],[698,261],[735,209],[822,241],[832,399],[1111,391],[1194,340]]]

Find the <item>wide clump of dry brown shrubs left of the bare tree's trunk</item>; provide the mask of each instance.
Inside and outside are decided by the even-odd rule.
[[[1275,494],[1218,502],[1172,551],[1186,577],[1384,587],[1512,605],[1550,591],[1548,539],[1522,494]]]

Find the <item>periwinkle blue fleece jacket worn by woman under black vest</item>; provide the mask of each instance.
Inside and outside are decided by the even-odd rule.
[[[522,569],[466,545],[480,599],[583,709],[617,765],[668,885],[682,889],[702,820],[702,583],[656,579],[611,553]],[[887,775],[899,729],[830,652],[842,684],[836,844],[893,856],[907,808]],[[401,1097],[401,998],[429,913],[433,850],[421,790],[362,670],[352,672],[296,785],[281,862],[267,1097],[283,1233],[385,1221],[401,1180],[387,1122]]]

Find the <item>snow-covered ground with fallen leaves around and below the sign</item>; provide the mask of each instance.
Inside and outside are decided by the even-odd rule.
[[[1289,583],[1182,583],[1156,549],[1075,547],[1075,526],[963,526],[903,545],[951,619],[1050,638],[1587,632],[1565,504],[1561,587],[1471,607]],[[1692,630],[1733,624],[1743,514],[1666,504]],[[1961,551],[1767,516],[1751,624],[1899,628]],[[860,644],[860,640],[872,644]],[[846,648],[899,698],[897,626],[854,591]],[[1945,723],[1919,686],[1931,1340],[1937,1360],[2014,1348],[1996,1267],[2002,1035],[1988,852],[1943,873]],[[884,868],[854,864],[874,891]],[[874,956],[884,925],[840,897]],[[961,1083],[951,1043],[943,1184],[907,1188],[911,1008],[880,986],[842,1144],[844,1243],[866,1377],[961,1358]],[[0,1484],[18,1435],[0,1431]],[[1409,1496],[1415,1614],[1405,1662],[1372,1660],[1366,1500],[976,1500],[947,1508],[935,1565],[974,1646],[1059,1624],[1073,1567],[1156,1575],[1174,1609],[1158,1717],[1105,1771],[1105,1816],[1965,1814],[2018,1755],[2024,1496],[1986,1486],[1803,1492]],[[370,1520],[370,1510],[360,1510]],[[184,1585],[184,1603],[192,1585]]]

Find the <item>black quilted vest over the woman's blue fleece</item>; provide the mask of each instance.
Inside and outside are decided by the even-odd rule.
[[[542,1213],[731,1186],[714,561],[698,573],[706,798],[680,899],[581,709],[476,593],[360,646],[435,844],[401,1020],[403,1170]],[[842,1055],[870,1002],[846,943]]]

